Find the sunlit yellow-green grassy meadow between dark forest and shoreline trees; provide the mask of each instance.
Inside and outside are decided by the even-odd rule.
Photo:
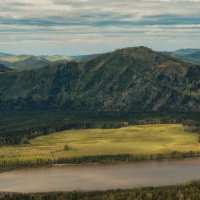
[[[69,150],[64,147],[68,145]],[[200,151],[198,134],[179,124],[152,124],[119,129],[69,130],[37,137],[30,144],[0,147],[0,163],[115,154],[165,154]]]

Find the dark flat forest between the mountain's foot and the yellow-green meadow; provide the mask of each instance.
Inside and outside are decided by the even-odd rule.
[[[40,135],[87,128],[120,128],[130,125],[182,123],[199,121],[199,113],[61,113],[25,112],[0,115],[0,145],[27,144]],[[197,128],[198,127],[198,128]],[[200,126],[185,125],[185,129],[198,130]]]

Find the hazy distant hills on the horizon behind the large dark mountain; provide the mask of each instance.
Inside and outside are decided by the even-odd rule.
[[[194,64],[200,64],[200,49],[179,49],[172,52],[164,52],[173,57],[179,58],[186,62]],[[15,70],[30,70],[45,67],[50,63],[57,61],[76,61],[76,62],[87,62],[94,58],[97,58],[102,54],[92,55],[78,55],[78,56],[67,56],[67,55],[13,55],[9,53],[0,52],[0,63],[14,68]]]

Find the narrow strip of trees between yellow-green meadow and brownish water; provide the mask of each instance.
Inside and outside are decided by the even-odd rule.
[[[63,157],[63,158],[37,158],[37,159],[1,159],[0,172],[9,169],[53,166],[56,164],[91,164],[91,163],[114,163],[114,162],[137,162],[146,160],[169,160],[200,157],[200,151],[179,152],[173,151],[165,154],[132,155],[91,155],[82,157]]]

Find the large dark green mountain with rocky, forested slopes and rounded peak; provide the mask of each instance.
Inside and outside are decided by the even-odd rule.
[[[0,75],[1,110],[200,111],[200,66],[145,47]]]

